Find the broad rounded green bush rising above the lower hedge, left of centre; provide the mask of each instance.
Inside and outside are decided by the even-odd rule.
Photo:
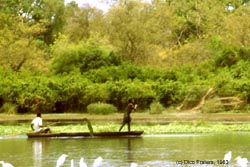
[[[55,74],[72,71],[86,72],[103,66],[119,65],[120,57],[100,46],[89,46],[86,43],[78,45],[67,44],[53,52],[51,70]]]

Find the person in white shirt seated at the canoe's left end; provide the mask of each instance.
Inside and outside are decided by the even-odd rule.
[[[37,113],[36,116],[31,122],[31,129],[36,133],[51,133],[50,128],[43,126],[42,114]]]

